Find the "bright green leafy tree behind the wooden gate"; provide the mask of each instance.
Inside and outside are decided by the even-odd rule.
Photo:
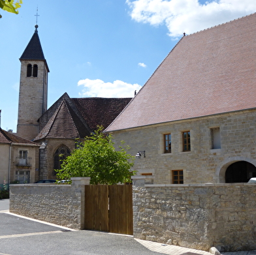
[[[71,177],[91,177],[91,184],[116,184],[131,181],[130,168],[135,157],[127,154],[128,145],[121,141],[120,149],[116,151],[112,136],[103,134],[103,127],[98,127],[95,133],[87,136],[77,149],[61,164],[57,172],[59,179]]]

